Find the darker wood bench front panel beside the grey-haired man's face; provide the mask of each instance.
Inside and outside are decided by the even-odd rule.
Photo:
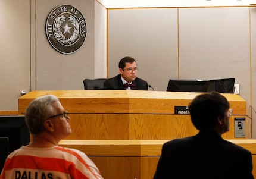
[[[69,114],[72,133],[65,139],[129,139],[128,114]]]

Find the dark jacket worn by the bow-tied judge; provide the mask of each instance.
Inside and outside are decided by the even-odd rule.
[[[135,89],[133,90],[148,90],[148,83],[141,78],[135,78],[133,83],[135,84]],[[118,74],[113,78],[108,78],[104,82],[104,89],[125,90],[121,75]]]

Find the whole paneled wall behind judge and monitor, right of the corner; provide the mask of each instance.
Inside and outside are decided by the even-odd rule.
[[[236,78],[255,116],[255,7],[108,10],[108,76],[133,56],[138,76],[155,90],[169,78]],[[252,108],[251,108],[252,105]],[[256,123],[252,118],[252,129]],[[256,133],[252,130],[252,136]]]

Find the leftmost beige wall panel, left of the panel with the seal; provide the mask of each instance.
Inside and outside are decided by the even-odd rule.
[[[0,1],[0,111],[17,110],[30,85],[30,0]]]

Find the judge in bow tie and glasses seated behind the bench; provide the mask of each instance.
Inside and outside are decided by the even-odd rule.
[[[148,90],[148,83],[137,77],[137,63],[126,56],[119,61],[119,73],[104,82],[104,89],[111,90]]]

